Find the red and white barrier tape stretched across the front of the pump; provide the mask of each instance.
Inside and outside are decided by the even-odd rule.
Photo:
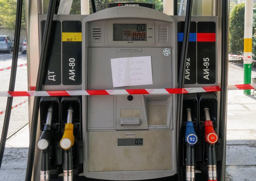
[[[230,90],[256,89],[256,83],[228,85]],[[93,96],[93,95],[129,95],[129,94],[187,94],[196,92],[220,91],[220,86],[172,88],[172,89],[121,89],[121,90],[77,90],[77,91],[0,91],[0,97],[22,96]]]

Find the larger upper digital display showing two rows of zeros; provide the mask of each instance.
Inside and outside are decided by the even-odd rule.
[[[114,41],[147,41],[147,24],[114,24]]]

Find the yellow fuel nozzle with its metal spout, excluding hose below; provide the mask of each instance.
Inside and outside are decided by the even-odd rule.
[[[65,125],[64,134],[60,140],[60,147],[62,149],[69,149],[73,146],[75,136],[73,134],[74,125],[72,124],[73,110],[68,110],[67,124]]]

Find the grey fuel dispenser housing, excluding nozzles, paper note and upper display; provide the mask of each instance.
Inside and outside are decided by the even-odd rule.
[[[45,18],[45,15],[39,15],[40,37],[43,34]],[[71,149],[75,180],[85,177],[106,180],[177,178],[177,94],[168,94],[166,90],[166,94],[148,95],[145,92],[138,95],[132,90],[177,87],[182,21],[184,17],[167,16],[144,7],[114,7],[90,16],[54,15],[53,44],[50,47],[52,51],[48,54],[49,66],[44,77],[44,90],[101,90],[103,94],[55,97],[59,104],[59,123],[53,124],[58,124],[59,128],[53,136],[57,134],[59,141],[64,133],[70,105],[74,111],[75,143]],[[217,51],[220,39],[218,17],[195,16],[191,21],[191,33],[194,34],[190,47],[194,46],[196,50],[188,52],[190,59],[187,60],[189,65],[186,69],[189,69],[187,72],[189,71],[188,77],[191,79],[186,80],[185,86],[192,88],[217,85],[220,77]],[[114,24],[132,23],[147,25],[148,40],[114,41]],[[207,23],[214,28],[207,27],[205,31],[200,29],[200,26]],[[198,41],[198,33],[211,33],[211,41]],[[200,52],[200,47],[204,47],[205,51],[212,51],[209,58],[211,61],[204,61],[203,56],[206,55]],[[170,51],[168,55],[164,54],[166,48]],[[153,84],[113,87],[110,59],[140,56],[151,57]],[[58,60],[55,61],[56,57]],[[209,66],[205,62],[212,66],[209,68],[211,70],[208,72],[208,82],[208,77],[202,78],[204,72],[208,71],[204,69]],[[132,90],[130,95],[104,95],[105,90],[121,89]],[[217,132],[217,100],[215,93],[184,95],[182,134],[185,134],[186,109],[190,108],[194,129],[198,135],[195,162],[199,171],[196,172],[196,179],[202,178],[201,175],[206,173],[205,166],[207,167],[202,107],[209,105],[213,126]],[[40,115],[41,107],[45,112],[43,109],[47,106],[46,103],[40,103]],[[219,141],[221,143],[221,139]],[[180,156],[185,166],[186,142],[183,142]],[[59,143],[56,144],[57,148]],[[60,155],[56,165],[60,166],[63,164],[62,150],[56,150],[56,154]],[[216,144],[216,152],[219,161],[221,144]],[[62,168],[58,168],[58,176],[61,177]]]

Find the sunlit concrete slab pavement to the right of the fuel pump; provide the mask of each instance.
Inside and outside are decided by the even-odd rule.
[[[256,69],[252,69],[256,76]],[[229,63],[228,84],[243,83],[243,64]],[[226,180],[254,181],[256,172],[256,96],[228,91]]]

